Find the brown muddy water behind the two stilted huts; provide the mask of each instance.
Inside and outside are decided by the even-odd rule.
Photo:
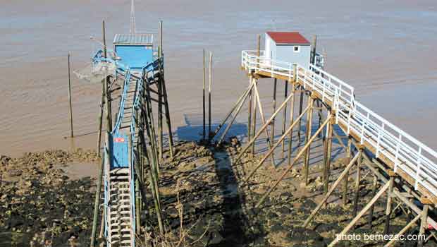
[[[202,49],[214,52],[214,121],[226,114],[248,81],[240,51],[257,33],[298,30],[319,35],[327,70],[354,85],[375,112],[437,148],[435,1],[137,1],[137,31],[164,20],[166,80],[173,131],[202,113]],[[73,68],[90,61],[101,20],[108,42],[128,32],[130,1],[6,1],[0,9],[0,152],[94,147],[100,85],[73,79],[74,142],[69,133],[66,54]],[[271,109],[271,80],[260,83]],[[282,87],[278,94],[282,93]],[[281,97],[278,97],[281,98]],[[244,110],[244,109],[243,109]],[[247,118],[240,117],[245,123]],[[183,133],[180,133],[183,134]]]

